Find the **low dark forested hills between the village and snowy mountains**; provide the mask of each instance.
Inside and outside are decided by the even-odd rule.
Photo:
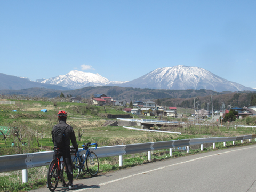
[[[256,105],[256,92],[215,92],[212,90],[157,90],[157,89],[134,89],[124,87],[85,87],[83,89],[60,91],[44,88],[33,88],[23,90],[0,90],[4,95],[27,95],[33,97],[55,98],[60,97],[63,93],[64,97],[72,95],[73,97],[81,97],[90,99],[94,94],[105,94],[114,100],[127,101],[143,101],[152,100],[162,106],[176,106],[185,108],[208,109],[211,110],[211,95],[213,98],[213,109],[220,110],[221,102],[224,102],[226,108],[244,107]],[[209,103],[209,104],[207,104]],[[198,105],[197,105],[198,104]]]

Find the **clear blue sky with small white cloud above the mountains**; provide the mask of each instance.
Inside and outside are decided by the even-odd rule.
[[[0,0],[0,73],[130,81],[197,66],[256,87],[256,1]]]

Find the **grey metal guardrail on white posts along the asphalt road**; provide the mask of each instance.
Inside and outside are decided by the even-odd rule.
[[[170,155],[172,156],[172,149],[178,147],[187,147],[192,145],[201,145],[201,150],[203,150],[203,145],[206,143],[213,143],[213,148],[215,148],[215,143],[223,142],[226,146],[227,141],[240,141],[255,139],[254,135],[244,135],[238,137],[217,137],[217,138],[198,138],[198,139],[183,139],[183,140],[172,140],[172,141],[160,141],[160,142],[149,142],[149,143],[138,143],[130,145],[118,145],[118,146],[105,146],[98,147],[94,150],[95,154],[99,158],[102,157],[113,157],[119,156],[119,166],[123,165],[122,155],[126,154],[136,154],[148,152],[148,160],[151,159],[151,151],[170,149]],[[93,150],[93,148],[91,149]],[[189,150],[187,150],[189,152]],[[27,169],[33,167],[40,167],[49,165],[53,157],[53,151],[28,153],[28,154],[18,154],[18,155],[5,155],[0,156],[0,173],[7,171],[22,170],[22,181],[27,182]]]

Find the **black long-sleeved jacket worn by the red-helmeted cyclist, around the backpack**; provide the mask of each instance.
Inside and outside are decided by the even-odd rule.
[[[65,125],[67,125],[67,123],[63,120],[60,120],[59,123],[57,124],[57,127],[64,127]],[[57,127],[53,127],[52,128],[52,133],[53,131],[57,128]],[[75,132],[73,130],[73,127],[71,127],[70,125],[67,126],[67,129],[65,130],[65,145],[63,146],[63,148],[65,147],[69,147],[70,146],[70,140],[72,142],[72,145],[74,147],[77,147],[77,143],[76,143],[76,135],[75,135]],[[54,143],[54,147],[57,147],[55,145],[55,142],[54,142],[54,137],[53,137],[53,134],[52,134],[52,142]],[[62,147],[61,147],[62,148]]]

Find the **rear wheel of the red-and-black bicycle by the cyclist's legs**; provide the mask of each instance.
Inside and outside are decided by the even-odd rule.
[[[57,161],[54,159],[51,161],[48,169],[48,176],[47,176],[47,187],[50,191],[54,191],[58,185],[58,165]]]

